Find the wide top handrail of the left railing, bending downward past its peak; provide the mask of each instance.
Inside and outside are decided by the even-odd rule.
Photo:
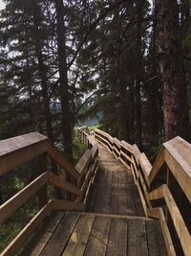
[[[74,166],[57,151],[46,136],[38,132],[16,136],[0,142],[0,176],[9,173],[45,152],[76,180],[79,178]]]

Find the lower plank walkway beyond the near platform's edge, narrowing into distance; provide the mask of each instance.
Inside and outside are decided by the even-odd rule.
[[[86,204],[87,212],[144,216],[132,172],[99,145],[98,169]]]

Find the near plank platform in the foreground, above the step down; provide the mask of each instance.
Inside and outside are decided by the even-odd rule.
[[[167,255],[159,221],[69,212],[54,229],[50,224],[44,223],[22,256]]]

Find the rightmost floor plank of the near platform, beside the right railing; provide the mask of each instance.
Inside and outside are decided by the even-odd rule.
[[[159,221],[145,221],[149,256],[167,256]]]

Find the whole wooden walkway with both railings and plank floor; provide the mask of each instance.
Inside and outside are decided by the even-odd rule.
[[[88,146],[74,167],[43,135],[0,142],[0,175],[41,161],[42,172],[0,206],[0,223],[38,198],[38,213],[1,255],[191,255],[191,145],[163,144],[152,166],[136,145],[79,128]],[[98,143],[97,143],[98,142]],[[72,177],[49,170],[48,157]],[[71,200],[49,198],[47,184]]]

